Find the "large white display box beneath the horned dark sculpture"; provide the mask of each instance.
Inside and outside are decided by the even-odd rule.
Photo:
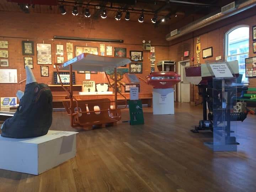
[[[0,136],[0,169],[39,175],[76,155],[76,133],[49,130],[41,137]]]

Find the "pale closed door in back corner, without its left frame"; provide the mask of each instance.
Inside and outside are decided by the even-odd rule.
[[[190,66],[190,62],[183,62],[180,66],[181,71],[181,83],[180,83],[180,96],[181,96],[181,102],[190,102],[190,84],[186,83],[185,81],[185,67]]]

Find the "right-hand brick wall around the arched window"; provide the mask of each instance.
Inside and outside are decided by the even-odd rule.
[[[250,27],[250,40],[249,40],[249,57],[255,57],[256,54],[253,53],[252,48],[252,26],[256,25],[256,16],[255,16],[256,7],[251,8],[250,10],[241,12],[235,16],[229,17],[220,22],[214,23],[210,26],[204,27],[200,30],[197,30],[193,33],[187,34],[181,38],[174,39],[170,41],[170,49],[169,55],[170,59],[176,62],[181,60],[187,60],[191,57],[194,57],[194,62],[192,64],[196,64],[196,44],[197,37],[200,37],[201,43],[201,53],[200,53],[200,63],[205,63],[206,60],[215,60],[215,57],[222,56],[224,59],[224,37],[225,33],[228,32],[231,28],[238,25],[249,25]],[[171,26],[170,31],[174,30],[179,24]],[[185,49],[186,47],[186,49]],[[208,47],[213,47],[213,57],[203,59],[202,50]],[[182,50],[182,51],[180,51]],[[190,50],[189,57],[182,57],[183,52],[186,50]],[[177,69],[178,66],[176,65]],[[250,78],[249,84],[251,87],[256,87],[256,79]],[[198,96],[197,86],[191,85],[191,101],[200,102],[201,98]]]

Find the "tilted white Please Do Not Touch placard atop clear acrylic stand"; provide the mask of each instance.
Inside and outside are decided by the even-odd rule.
[[[226,63],[210,64],[215,78],[233,77],[228,65]]]

